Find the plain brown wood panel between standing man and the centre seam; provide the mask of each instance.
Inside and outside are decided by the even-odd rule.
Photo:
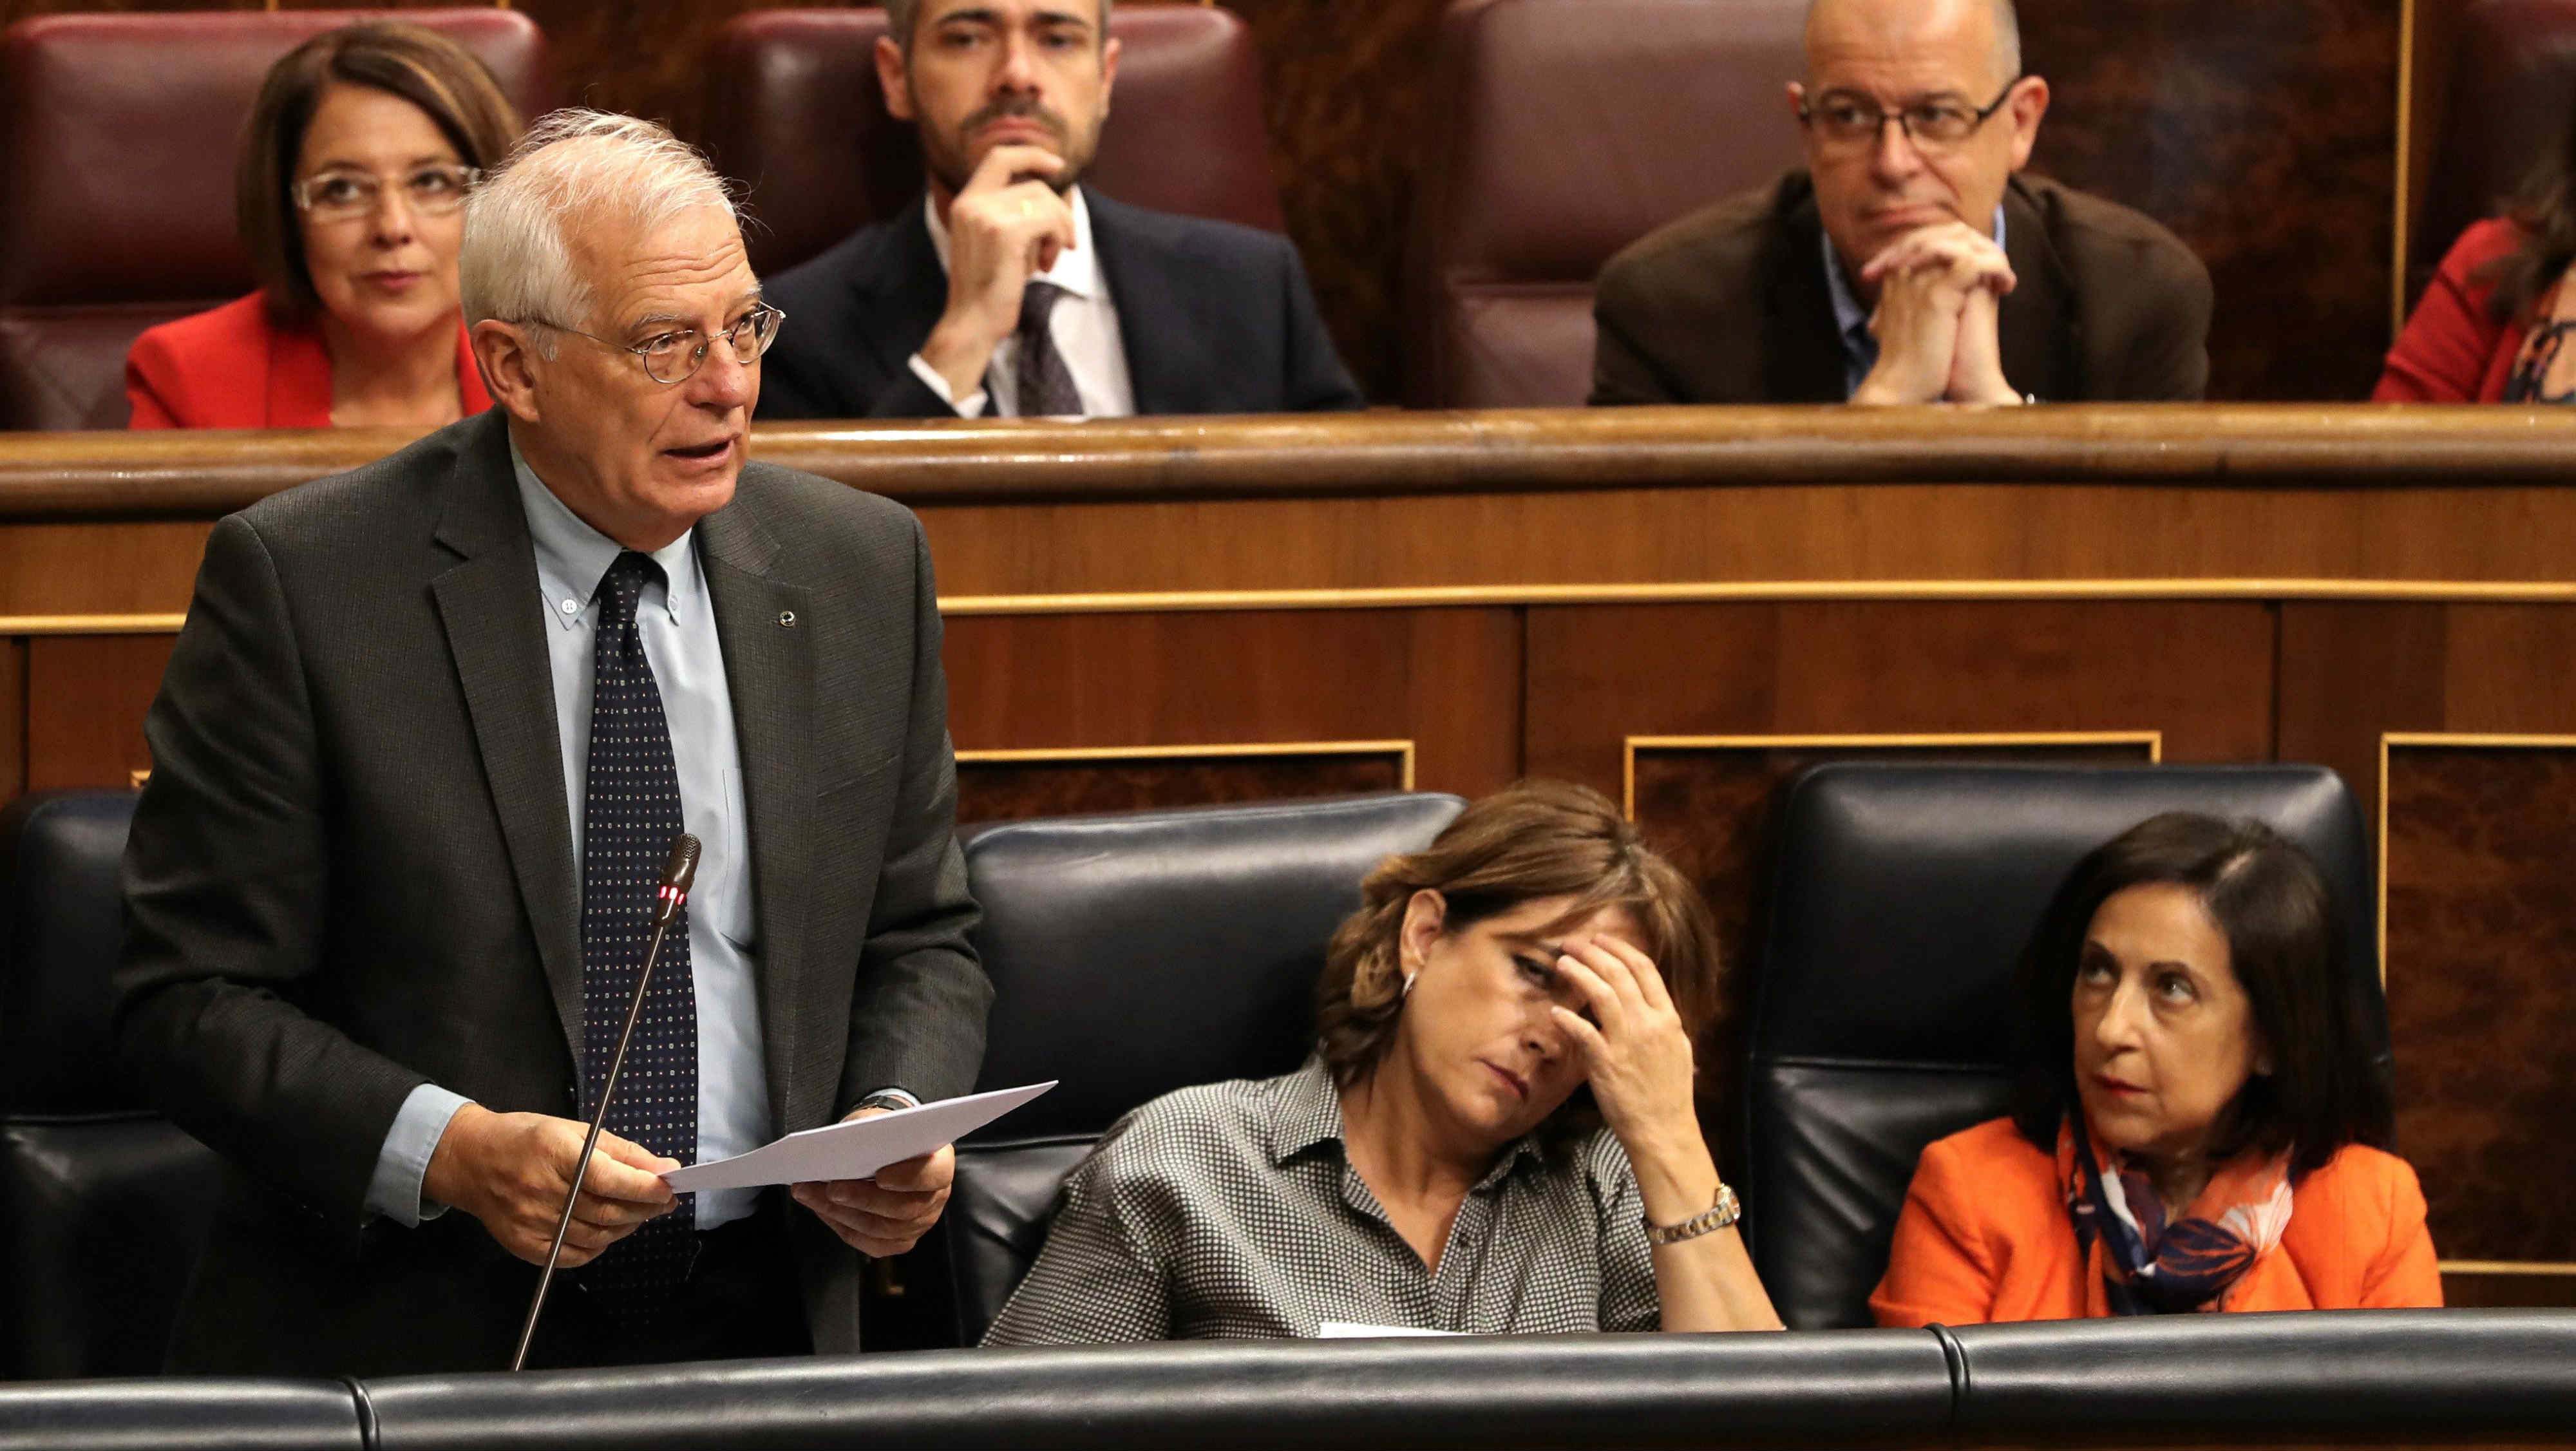
[[[1520,768],[1512,611],[1226,611],[948,624],[961,750],[1412,740],[1414,781]]]

